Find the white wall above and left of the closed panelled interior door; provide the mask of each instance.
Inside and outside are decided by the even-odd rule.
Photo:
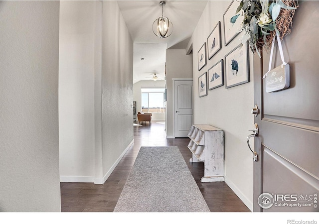
[[[166,135],[168,138],[174,136],[174,99],[173,79],[193,78],[192,54],[186,55],[185,49],[166,50]]]

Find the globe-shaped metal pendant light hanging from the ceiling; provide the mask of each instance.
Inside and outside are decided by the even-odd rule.
[[[173,24],[166,16],[163,16],[163,7],[165,4],[165,1],[160,1],[161,17],[153,22],[152,27],[154,34],[160,38],[168,37],[173,32]]]

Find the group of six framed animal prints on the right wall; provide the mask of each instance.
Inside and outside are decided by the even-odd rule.
[[[249,72],[249,47],[248,43],[239,44],[235,48],[228,50],[222,58],[217,57],[217,52],[222,47],[228,47],[235,37],[240,33],[240,25],[243,20],[240,12],[236,12],[238,5],[232,1],[221,18],[211,30],[200,49],[197,52],[198,71],[198,96],[207,96],[209,91],[216,88],[231,88],[250,82]],[[224,32],[222,40],[221,32]],[[223,42],[223,43],[222,43]],[[220,56],[219,56],[220,57]],[[218,61],[211,67],[207,67],[207,62],[214,58]],[[206,68],[207,67],[207,68]]]

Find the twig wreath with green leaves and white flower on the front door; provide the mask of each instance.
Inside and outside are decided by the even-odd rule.
[[[276,32],[281,39],[291,32],[297,7],[297,0],[242,0],[230,20],[235,23],[242,13],[244,20],[240,31],[245,31],[242,44],[249,41],[252,52],[260,56],[260,51],[271,45]]]

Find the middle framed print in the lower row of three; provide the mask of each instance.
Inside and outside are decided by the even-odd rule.
[[[208,69],[208,89],[212,90],[224,85],[223,59]]]

